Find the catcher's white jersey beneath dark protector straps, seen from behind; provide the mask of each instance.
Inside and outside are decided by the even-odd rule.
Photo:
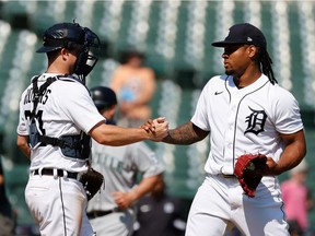
[[[44,73],[38,78],[38,87],[47,78],[57,74]],[[20,122],[18,133],[30,134],[30,114],[33,109],[33,85],[22,94],[20,102]],[[61,78],[51,83],[39,99],[37,109],[37,129],[47,137],[88,133],[96,123],[105,118],[97,111],[86,87],[71,78]],[[40,116],[38,116],[38,114]],[[85,162],[67,158],[60,148],[52,145],[32,149],[31,170],[48,167],[69,172],[84,172]]]

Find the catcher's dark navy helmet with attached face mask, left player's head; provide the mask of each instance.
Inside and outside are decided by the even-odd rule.
[[[97,62],[92,49],[100,47],[98,36],[78,23],[58,23],[45,31],[43,46],[37,52],[50,52],[61,48],[79,49],[80,55],[74,66],[74,73],[84,80]]]

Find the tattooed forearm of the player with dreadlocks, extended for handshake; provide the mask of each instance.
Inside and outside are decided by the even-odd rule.
[[[168,135],[163,139],[163,142],[188,145],[205,139],[208,133],[188,121],[176,129],[168,130]]]

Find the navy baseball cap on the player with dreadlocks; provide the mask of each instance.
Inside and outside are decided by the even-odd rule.
[[[214,42],[214,47],[225,47],[229,45],[255,45],[267,48],[267,42],[262,32],[249,23],[235,24],[230,27],[229,35],[224,40]]]

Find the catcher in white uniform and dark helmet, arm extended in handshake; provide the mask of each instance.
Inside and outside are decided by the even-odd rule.
[[[90,165],[90,137],[107,145],[159,141],[167,121],[160,118],[154,133],[106,125],[84,85],[97,61],[91,52],[100,46],[97,35],[74,22],[58,23],[43,39],[37,52],[47,54],[47,71],[32,79],[20,102],[16,143],[31,160],[25,200],[40,235],[94,235],[80,182]]]

